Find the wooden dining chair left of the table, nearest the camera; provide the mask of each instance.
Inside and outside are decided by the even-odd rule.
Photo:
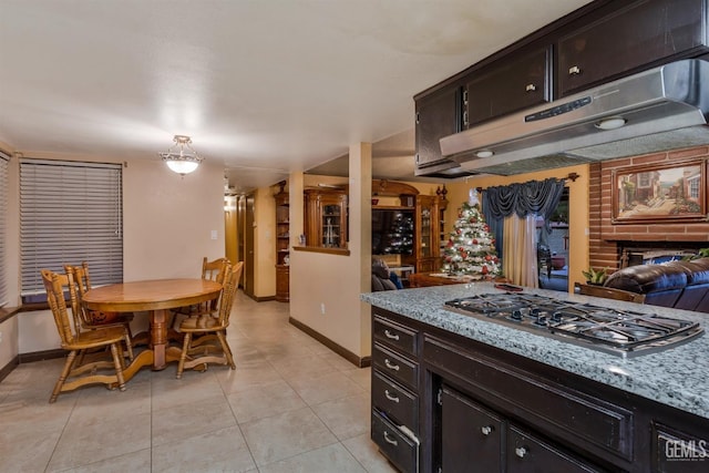
[[[64,291],[69,289],[71,306],[74,307],[76,299],[75,290],[72,290],[70,275],[61,275],[42,269],[42,281],[47,289],[47,300],[54,317],[54,323],[61,339],[61,347],[69,351],[62,372],[54,384],[54,390],[49,399],[52,403],[61,392],[73,391],[86,384],[103,383],[113,389],[115,385],[121,391],[125,391],[123,378],[123,357],[121,356],[121,342],[124,340],[123,329],[120,327],[102,328],[82,331],[79,317],[69,318]],[[109,348],[111,350],[111,361],[96,359],[104,352],[88,354],[89,350],[96,348]],[[100,374],[97,370],[113,369],[113,374]]]

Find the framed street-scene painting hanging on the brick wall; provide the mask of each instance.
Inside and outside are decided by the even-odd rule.
[[[613,171],[613,223],[707,220],[703,160]]]

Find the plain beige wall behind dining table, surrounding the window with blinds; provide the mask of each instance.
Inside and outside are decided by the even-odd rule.
[[[131,160],[126,164],[123,168],[124,280],[199,277],[203,257],[224,256],[223,167],[206,161],[194,173],[181,177],[158,158]],[[11,166],[11,172],[16,167]],[[9,222],[10,230],[16,233],[17,213],[14,208]],[[217,232],[216,239],[212,239],[212,230]],[[19,239],[16,245],[17,250],[10,249],[10,253],[19,254]],[[17,265],[10,270],[17,271]],[[17,287],[14,290],[18,291]],[[16,318],[19,353],[59,348],[59,336],[49,310],[21,312]],[[146,319],[135,320],[134,325],[136,329],[144,327]]]

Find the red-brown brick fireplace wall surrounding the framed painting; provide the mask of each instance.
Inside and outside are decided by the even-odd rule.
[[[698,160],[706,173],[709,147],[655,153],[590,165],[590,266],[618,269],[623,265],[638,264],[641,256],[646,255],[695,253],[699,248],[709,247],[709,222],[613,223],[614,171],[655,164],[674,165],[688,160]]]

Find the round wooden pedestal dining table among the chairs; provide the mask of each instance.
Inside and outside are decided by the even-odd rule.
[[[82,304],[102,312],[150,313],[150,350],[142,351],[124,370],[126,380],[143,367],[163,370],[178,361],[182,349],[168,347],[167,311],[219,297],[222,285],[207,279],[155,279],[100,286],[86,291]]]

